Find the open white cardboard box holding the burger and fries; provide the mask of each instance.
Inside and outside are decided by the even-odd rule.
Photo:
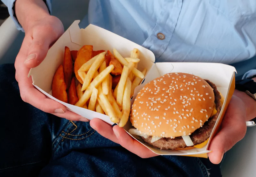
[[[128,130],[133,128],[130,120],[124,126],[124,130],[156,154],[207,158],[207,154],[210,152],[208,151],[209,143],[220,127],[220,123],[228,107],[228,103],[235,90],[235,68],[220,63],[155,63],[155,55],[150,50],[98,26],[89,25],[85,29],[80,29],[78,26],[79,22],[79,20],[74,21],[59,40],[56,41],[49,49],[44,61],[36,68],[30,70],[28,76],[32,77],[33,85],[48,98],[65,105],[68,110],[86,117],[89,120],[93,118],[100,118],[110,125],[113,125],[114,123],[110,121],[107,115],[76,107],[52,97],[52,78],[59,65],[63,62],[65,46],[68,46],[70,50],[79,50],[83,45],[93,45],[93,50],[113,51],[113,48],[116,48],[123,57],[129,57],[130,51],[133,48],[138,48],[140,51],[138,69],[142,71],[146,68],[147,73],[145,78],[141,81],[141,85],[136,87],[131,100],[132,103],[137,93],[146,83],[156,77],[170,72],[184,72],[210,80],[217,86],[218,91],[225,97],[225,101],[208,143],[200,149],[195,148],[192,150],[182,151],[160,150],[151,145],[145,144],[140,136],[132,136],[129,134]]]

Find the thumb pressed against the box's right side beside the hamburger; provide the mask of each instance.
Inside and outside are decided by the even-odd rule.
[[[209,146],[209,159],[213,164],[219,164],[225,152],[230,150],[246,133],[245,113],[235,109],[230,103],[218,134]]]

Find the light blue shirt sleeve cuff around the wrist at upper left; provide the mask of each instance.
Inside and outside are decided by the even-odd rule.
[[[2,2],[4,3],[4,5],[7,6],[10,17],[14,21],[16,28],[18,30],[21,30],[22,32],[24,32],[24,29],[20,25],[17,18],[14,16],[13,6],[14,6],[14,3],[15,3],[15,0],[2,0]],[[52,0],[44,0],[44,2],[46,3],[49,12],[52,13]]]

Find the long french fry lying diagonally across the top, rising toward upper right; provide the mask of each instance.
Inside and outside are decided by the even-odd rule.
[[[91,84],[88,86],[88,88],[85,90],[83,96],[81,99],[78,100],[76,103],[76,106],[83,106],[87,100],[89,100],[90,96],[92,95],[92,89],[93,87],[97,88],[102,81],[108,77],[108,74],[114,69],[113,65],[109,65],[105,70],[103,70],[97,77],[93,79]],[[97,73],[97,72],[96,72]],[[103,109],[104,110],[104,109]],[[104,111],[105,112],[105,111]]]

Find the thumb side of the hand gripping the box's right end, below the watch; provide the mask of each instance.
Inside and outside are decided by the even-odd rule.
[[[235,90],[220,131],[209,146],[209,150],[212,151],[209,153],[209,159],[213,164],[219,164],[224,153],[245,136],[246,121],[256,117],[255,108],[255,100],[246,93]]]

